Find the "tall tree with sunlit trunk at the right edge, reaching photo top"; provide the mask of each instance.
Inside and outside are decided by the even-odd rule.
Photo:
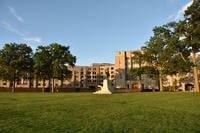
[[[198,67],[196,54],[200,51],[200,1],[194,0],[193,4],[185,11],[185,19],[179,23],[177,31],[182,35],[182,45],[192,53],[195,92],[199,92]]]

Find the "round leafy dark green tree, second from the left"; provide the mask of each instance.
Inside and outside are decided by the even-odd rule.
[[[52,43],[48,46],[38,46],[34,56],[35,74],[43,80],[43,89],[46,79],[51,83],[51,92],[54,92],[54,80],[71,78],[72,73],[67,69],[67,65],[74,66],[76,57],[69,51],[69,46]]]

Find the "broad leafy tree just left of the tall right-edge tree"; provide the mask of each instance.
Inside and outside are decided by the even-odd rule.
[[[190,71],[188,58],[190,52],[182,45],[180,34],[176,31],[177,27],[176,22],[155,27],[154,35],[146,46],[144,57],[148,64],[158,72],[160,91],[163,90],[164,75],[185,74]]]

